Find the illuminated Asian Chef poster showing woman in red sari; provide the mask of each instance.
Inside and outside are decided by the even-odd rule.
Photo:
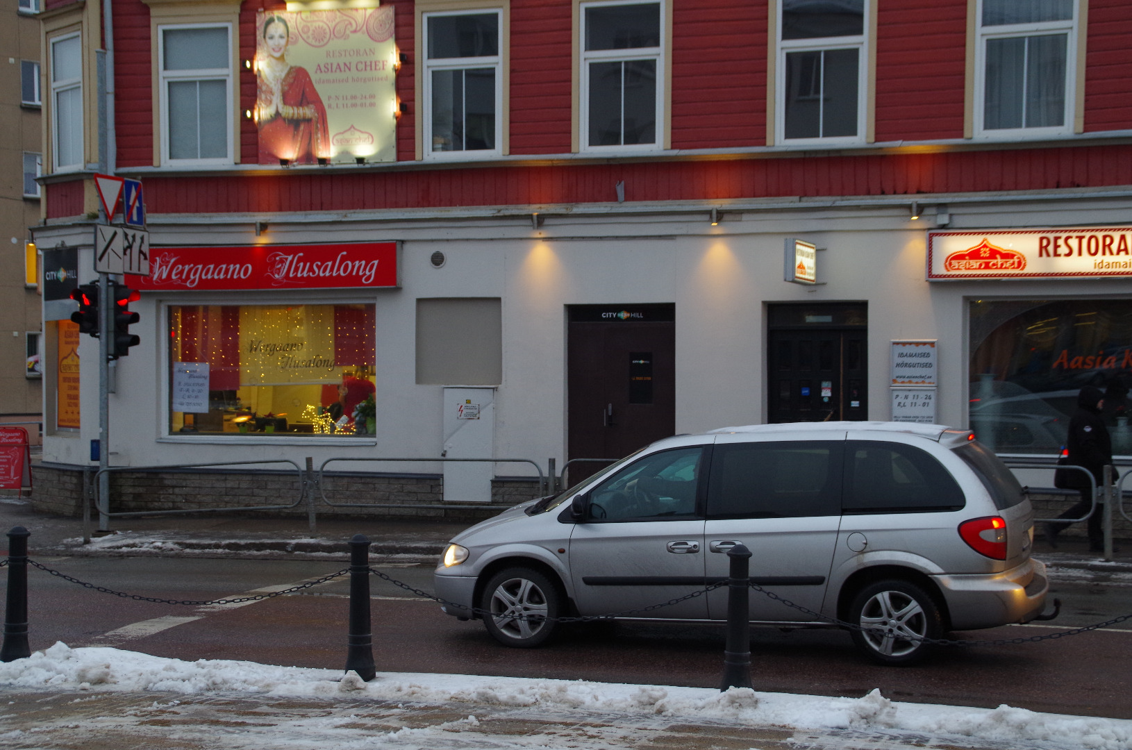
[[[256,14],[259,163],[396,158],[393,6]]]

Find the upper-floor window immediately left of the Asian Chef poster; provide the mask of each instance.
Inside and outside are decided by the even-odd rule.
[[[160,31],[162,161],[231,164],[230,26]]]

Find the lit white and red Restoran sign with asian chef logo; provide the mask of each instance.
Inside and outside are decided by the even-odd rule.
[[[1132,227],[927,233],[927,281],[1132,276]]]

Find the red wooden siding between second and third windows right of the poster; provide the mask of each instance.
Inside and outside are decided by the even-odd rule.
[[[672,148],[766,144],[766,3],[676,2]]]

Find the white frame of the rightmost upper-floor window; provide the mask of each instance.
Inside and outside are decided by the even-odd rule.
[[[1036,24],[1004,24],[983,26],[984,0],[975,2],[975,62],[974,62],[974,138],[981,140],[1031,140],[1050,136],[1071,136],[1074,132],[1074,115],[1078,107],[1078,48],[1081,20],[1081,3],[1072,2],[1073,17],[1069,20],[1040,21]],[[1065,94],[1062,124],[1038,128],[995,128],[987,129],[986,122],[986,63],[987,42],[1000,38],[1029,38],[1032,36],[1054,36],[1065,34]],[[1026,92],[1022,92],[1024,103]]]

